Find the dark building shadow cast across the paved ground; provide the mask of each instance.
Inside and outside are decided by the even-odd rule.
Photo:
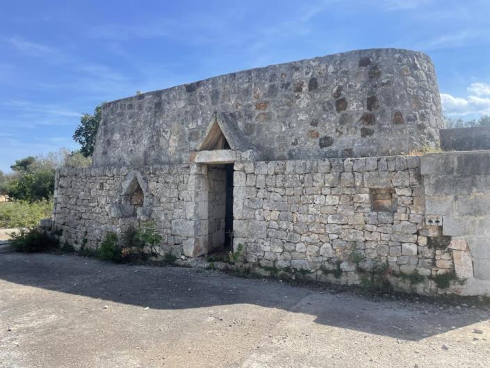
[[[465,307],[441,309],[435,303],[376,301],[351,292],[312,291],[277,280],[237,278],[218,271],[111,264],[74,255],[3,253],[0,279],[154,310],[253,304],[310,314],[316,323],[328,326],[407,340],[420,340],[490,317],[484,310]]]

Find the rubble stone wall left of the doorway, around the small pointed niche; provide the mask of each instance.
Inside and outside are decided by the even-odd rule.
[[[63,230],[60,243],[79,249],[97,248],[107,232],[124,235],[142,221],[153,221],[163,237],[161,253],[182,254],[188,241],[186,203],[189,166],[147,166],[138,169],[147,186],[145,205],[137,214],[121,214],[122,184],[128,168],[63,168],[56,173],[54,227]]]

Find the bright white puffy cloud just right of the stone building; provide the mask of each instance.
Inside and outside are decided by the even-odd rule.
[[[448,116],[490,115],[490,85],[471,83],[466,89],[470,93],[466,97],[441,93],[444,113]]]

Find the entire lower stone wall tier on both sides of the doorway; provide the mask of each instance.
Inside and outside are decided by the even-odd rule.
[[[124,198],[136,180],[144,201],[133,209]],[[62,169],[54,227],[62,244],[97,248],[109,231],[124,241],[153,221],[161,255],[206,255],[222,239],[224,186],[224,170],[201,163]],[[465,282],[444,292],[490,294],[490,152],[237,161],[233,210],[238,267],[364,285],[388,266],[407,291],[434,294],[434,277],[452,273]]]

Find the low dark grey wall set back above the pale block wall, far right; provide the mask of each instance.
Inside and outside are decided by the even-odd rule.
[[[490,127],[441,129],[445,151],[490,150]]]

